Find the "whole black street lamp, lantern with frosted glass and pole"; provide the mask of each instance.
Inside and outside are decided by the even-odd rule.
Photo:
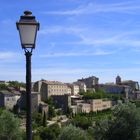
[[[19,31],[21,46],[26,56],[26,139],[32,140],[32,116],[31,116],[31,56],[35,48],[37,31],[39,23],[36,21],[32,12],[25,11],[16,23]]]

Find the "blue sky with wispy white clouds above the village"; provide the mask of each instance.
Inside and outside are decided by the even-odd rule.
[[[16,21],[31,10],[40,22],[32,80],[140,82],[140,0],[1,0],[0,80],[25,81]]]

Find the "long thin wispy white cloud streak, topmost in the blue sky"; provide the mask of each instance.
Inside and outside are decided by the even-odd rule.
[[[87,5],[80,5],[79,7],[66,11],[47,11],[41,12],[43,14],[51,15],[86,15],[94,13],[108,13],[108,12],[117,12],[117,13],[128,13],[134,14],[140,10],[140,6],[134,2],[120,2],[112,4],[99,4],[99,3],[88,3]]]

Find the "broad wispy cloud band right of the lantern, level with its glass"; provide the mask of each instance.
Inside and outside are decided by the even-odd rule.
[[[94,31],[93,31],[94,30]],[[120,46],[140,46],[139,30],[101,30],[92,29],[92,27],[75,27],[75,26],[48,26],[40,31],[40,35],[60,35],[70,34],[75,37],[74,41],[61,41],[61,44],[75,45],[90,45],[90,46],[105,46],[105,45],[120,45]],[[66,35],[65,35],[66,36]],[[68,36],[69,37],[69,36]],[[135,38],[134,38],[135,37]],[[60,42],[54,42],[59,44]],[[112,46],[113,47],[113,46]]]

